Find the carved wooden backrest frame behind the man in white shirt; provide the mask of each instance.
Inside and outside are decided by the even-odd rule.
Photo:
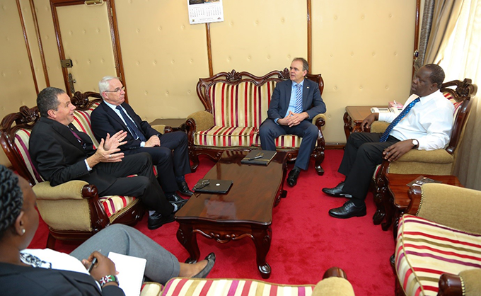
[[[446,151],[450,154],[454,153],[463,135],[471,109],[471,98],[475,96],[476,91],[476,84],[472,84],[471,79],[468,78],[465,78],[463,81],[448,81],[441,85],[441,93],[444,93],[444,96],[450,99],[456,108],[451,140],[448,147],[446,147]]]

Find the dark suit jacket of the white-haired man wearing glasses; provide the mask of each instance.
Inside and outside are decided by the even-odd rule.
[[[129,104],[122,103],[122,107],[127,111],[130,118],[134,120],[137,127],[139,127],[139,130],[144,133],[147,140],[153,135],[161,137],[161,134],[154,130],[149,123],[145,120],[141,120],[140,116],[134,112],[134,109],[132,109]],[[140,148],[141,140],[135,140],[134,137],[132,137],[130,132],[128,132],[127,125],[124,124],[119,115],[117,115],[112,108],[107,106],[106,103],[100,103],[100,105],[92,111],[91,121],[93,135],[95,135],[99,142],[100,139],[105,139],[105,137],[107,137],[107,133],[109,133],[109,135],[114,135],[120,130],[127,130],[127,137],[125,138],[127,143],[120,146],[120,149],[127,150]]]

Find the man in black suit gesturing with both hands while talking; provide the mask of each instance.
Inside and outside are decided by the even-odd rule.
[[[52,186],[71,180],[83,180],[97,187],[100,196],[130,195],[140,198],[151,210],[149,229],[173,222],[173,213],[182,205],[166,200],[153,174],[149,154],[124,156],[119,145],[125,144],[126,132],[116,132],[100,140],[93,148],[88,135],[71,125],[75,106],[69,96],[54,87],[37,96],[40,120],[30,135],[29,152],[42,178]],[[127,178],[127,176],[138,176]]]

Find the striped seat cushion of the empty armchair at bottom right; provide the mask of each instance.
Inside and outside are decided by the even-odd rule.
[[[481,268],[481,236],[403,215],[395,269],[406,295],[436,295],[442,273]]]

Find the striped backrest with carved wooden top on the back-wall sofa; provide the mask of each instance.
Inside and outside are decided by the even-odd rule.
[[[322,94],[321,74],[308,74]],[[279,81],[289,79],[289,70],[272,71],[264,76],[249,72],[220,72],[199,79],[197,96],[205,110],[214,115],[214,125],[226,127],[259,127],[267,118],[272,92]]]

